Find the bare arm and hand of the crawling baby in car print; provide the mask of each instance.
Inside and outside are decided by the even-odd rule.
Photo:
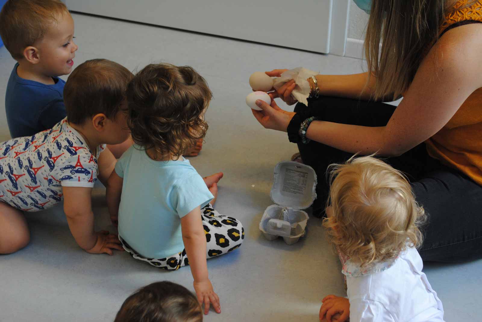
[[[68,227],[77,244],[91,254],[123,250],[115,234],[107,231],[94,232],[94,213],[91,207],[92,188],[63,187],[64,212]]]

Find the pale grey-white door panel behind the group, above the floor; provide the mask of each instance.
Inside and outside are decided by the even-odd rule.
[[[338,3],[334,2],[337,1]],[[71,11],[330,52],[332,16],[347,0],[65,0]],[[346,7],[346,6],[343,6]],[[345,10],[345,8],[343,8]],[[342,12],[343,16],[348,12]],[[339,14],[335,14],[339,16]],[[338,22],[343,26],[345,22]],[[346,37],[346,32],[342,32]],[[332,33],[333,35],[333,33]],[[340,36],[341,37],[341,36]],[[344,39],[339,41],[344,48]]]

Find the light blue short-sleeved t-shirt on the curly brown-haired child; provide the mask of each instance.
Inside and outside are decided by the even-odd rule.
[[[166,258],[184,250],[181,218],[214,196],[188,160],[154,161],[139,146],[117,161],[123,178],[119,235],[146,258]]]

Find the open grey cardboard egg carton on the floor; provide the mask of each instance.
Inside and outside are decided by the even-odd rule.
[[[283,237],[286,244],[295,244],[306,233],[308,214],[301,210],[316,199],[317,177],[307,165],[282,161],[274,168],[270,197],[276,205],[266,208],[259,229],[268,240]]]

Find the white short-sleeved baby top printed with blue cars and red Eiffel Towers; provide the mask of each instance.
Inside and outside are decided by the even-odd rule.
[[[62,185],[92,187],[97,180],[97,159],[68,125],[0,143],[0,201],[34,212],[63,200]]]

